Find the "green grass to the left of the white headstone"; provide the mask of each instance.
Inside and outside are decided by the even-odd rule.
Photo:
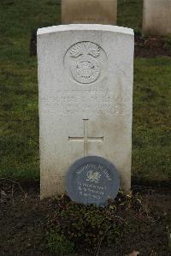
[[[60,23],[59,4],[1,0],[1,177],[39,179],[37,59],[30,57],[30,39],[38,27]]]

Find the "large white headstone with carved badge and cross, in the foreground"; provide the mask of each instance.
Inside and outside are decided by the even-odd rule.
[[[124,27],[38,29],[41,198],[64,193],[84,156],[109,160],[130,189],[133,43]]]

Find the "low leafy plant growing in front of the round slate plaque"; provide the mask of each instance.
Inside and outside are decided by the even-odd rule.
[[[132,195],[124,196],[122,193],[115,201],[109,201],[109,205],[105,208],[78,205],[70,201],[67,196],[58,198],[56,199],[56,213],[54,217],[50,217],[48,223],[50,234],[54,230],[55,233],[50,237],[48,235],[48,240],[58,241],[59,237],[65,237],[66,247],[68,241],[71,241],[76,251],[84,248],[88,253],[96,253],[102,244],[108,246],[120,243],[127,229],[125,218],[130,208],[136,208],[137,212],[140,211],[139,198]],[[117,212],[119,212],[118,215]],[[52,247],[57,251],[59,243],[54,248],[55,244],[52,242]]]

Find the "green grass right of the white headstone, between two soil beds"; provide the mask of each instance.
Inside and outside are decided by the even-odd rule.
[[[171,179],[171,58],[137,58],[134,68],[133,176]]]

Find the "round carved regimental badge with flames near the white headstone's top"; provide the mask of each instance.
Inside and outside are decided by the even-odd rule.
[[[106,67],[103,49],[92,42],[79,42],[67,51],[65,65],[76,82],[91,84],[99,79]]]

